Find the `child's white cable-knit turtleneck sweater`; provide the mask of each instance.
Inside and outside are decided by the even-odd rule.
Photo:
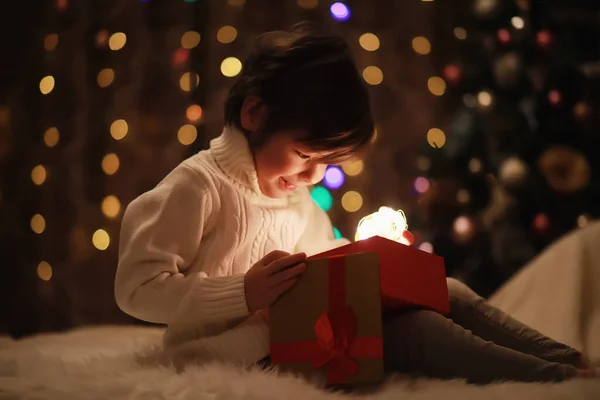
[[[127,207],[116,301],[168,324],[166,349],[249,365],[268,355],[269,331],[264,313],[248,311],[244,274],[272,250],[311,255],[346,243],[307,188],[262,195],[246,138],[227,127]]]

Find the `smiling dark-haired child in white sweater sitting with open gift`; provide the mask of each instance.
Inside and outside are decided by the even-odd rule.
[[[261,310],[296,283],[307,256],[349,243],[334,239],[308,186],[327,165],[361,155],[373,119],[344,40],[303,29],[259,38],[225,119],[208,150],[127,207],[115,295],[127,314],[168,325],[164,348],[172,354],[264,364]],[[457,281],[449,289],[453,321],[430,311],[385,315],[388,372],[473,382],[591,374],[578,372],[586,365],[576,350]]]

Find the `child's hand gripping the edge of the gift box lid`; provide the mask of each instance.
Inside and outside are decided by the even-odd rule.
[[[306,269],[305,260],[304,253],[290,254],[275,250],[254,264],[244,277],[248,310],[252,313],[269,307],[282,293],[294,286],[298,276]]]

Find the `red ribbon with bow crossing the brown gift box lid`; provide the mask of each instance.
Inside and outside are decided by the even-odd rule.
[[[275,364],[312,362],[327,365],[330,384],[345,382],[345,375],[358,372],[356,358],[383,358],[381,337],[355,337],[358,320],[346,305],[346,265],[344,257],[329,260],[329,312],[323,311],[314,325],[316,341],[271,343]]]

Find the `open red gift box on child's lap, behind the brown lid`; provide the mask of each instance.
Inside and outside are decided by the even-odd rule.
[[[309,259],[361,252],[374,252],[379,255],[384,309],[421,308],[443,315],[450,312],[446,269],[442,257],[373,236],[316,254]]]

